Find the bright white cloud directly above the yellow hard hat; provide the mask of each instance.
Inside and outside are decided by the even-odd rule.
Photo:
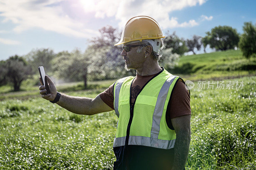
[[[178,18],[170,18],[169,13],[186,7],[196,6],[197,4],[202,5],[207,0],[96,0],[90,3],[84,0],[80,1],[84,4],[85,11],[95,12],[94,16],[96,18],[115,17],[119,22],[120,28],[125,25],[128,19],[134,16],[147,15],[156,19],[158,24],[165,29],[198,25],[194,19],[179,23]]]

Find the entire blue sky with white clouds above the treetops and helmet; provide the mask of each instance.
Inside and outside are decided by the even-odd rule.
[[[255,7],[254,0],[0,0],[0,60],[36,48],[84,51],[101,27],[122,30],[138,15],[155,18],[164,33],[185,39],[219,25],[243,33],[244,22],[256,23]]]

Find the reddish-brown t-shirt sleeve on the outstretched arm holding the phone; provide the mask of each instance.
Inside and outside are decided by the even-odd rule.
[[[114,108],[114,94],[113,94],[113,89],[114,89],[114,84],[110,85],[108,89],[106,89],[104,92],[100,93],[100,98],[101,100],[106,103],[110,108],[113,110]]]

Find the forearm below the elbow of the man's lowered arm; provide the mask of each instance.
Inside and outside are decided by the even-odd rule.
[[[187,130],[176,135],[174,145],[174,164],[172,170],[184,169],[188,157],[190,138],[190,131]]]

